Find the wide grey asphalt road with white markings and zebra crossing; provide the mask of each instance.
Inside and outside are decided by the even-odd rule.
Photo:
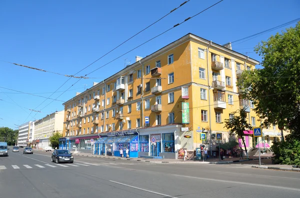
[[[0,157],[0,198],[299,198],[300,173],[245,164],[146,163],[50,152]]]

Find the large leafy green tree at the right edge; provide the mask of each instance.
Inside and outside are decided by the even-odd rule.
[[[300,22],[261,41],[255,51],[263,69],[244,71],[237,85],[265,127],[285,127],[300,140]]]

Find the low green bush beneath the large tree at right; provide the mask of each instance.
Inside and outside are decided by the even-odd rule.
[[[270,148],[274,154],[274,164],[300,166],[300,141],[287,138],[286,141],[276,142]]]

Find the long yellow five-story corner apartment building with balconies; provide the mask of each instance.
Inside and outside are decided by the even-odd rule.
[[[242,98],[236,81],[258,63],[230,44],[189,33],[145,58],[137,56],[135,63],[65,102],[61,145],[85,150],[98,139],[95,153],[117,155],[119,148],[131,149],[129,140],[119,138],[127,134],[138,136],[136,156],[176,159],[179,149],[200,144],[215,151],[216,133],[223,142],[238,141],[222,123],[231,112],[246,107],[249,123],[257,126],[252,103]],[[255,145],[250,134],[245,133],[247,147]]]

